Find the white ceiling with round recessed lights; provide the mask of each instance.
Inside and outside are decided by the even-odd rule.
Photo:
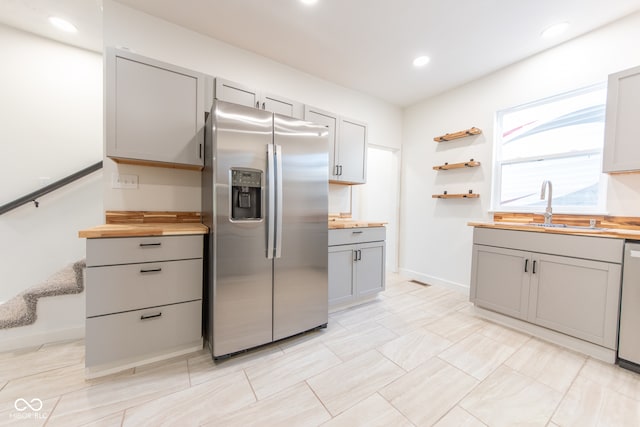
[[[117,0],[339,85],[408,106],[640,10],[640,0]],[[0,22],[101,49],[100,0],[3,0]],[[543,39],[547,26],[568,30]],[[414,57],[431,62],[414,68]]]

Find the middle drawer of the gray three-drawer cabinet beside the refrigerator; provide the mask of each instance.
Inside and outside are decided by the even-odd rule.
[[[89,267],[87,317],[202,298],[202,260]]]

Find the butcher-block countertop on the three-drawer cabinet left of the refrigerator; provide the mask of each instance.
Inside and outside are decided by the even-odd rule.
[[[207,234],[209,228],[198,223],[145,223],[104,224],[80,230],[78,237],[95,239],[102,237],[177,236],[185,234]]]

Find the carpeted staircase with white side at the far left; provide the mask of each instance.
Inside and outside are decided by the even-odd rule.
[[[85,261],[0,305],[0,351],[84,337]]]

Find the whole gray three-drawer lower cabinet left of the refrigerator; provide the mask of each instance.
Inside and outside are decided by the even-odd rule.
[[[202,347],[203,236],[87,240],[93,377]]]

